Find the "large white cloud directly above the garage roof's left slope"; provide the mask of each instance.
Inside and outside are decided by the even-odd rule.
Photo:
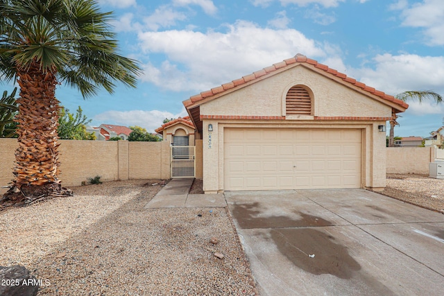
[[[245,76],[302,53],[323,58],[316,44],[294,29],[261,28],[248,21],[227,25],[227,32],[162,31],[139,34],[144,53],[163,53],[168,60],[146,64],[142,80],[175,91],[197,92]]]

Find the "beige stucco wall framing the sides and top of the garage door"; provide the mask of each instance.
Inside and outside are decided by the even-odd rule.
[[[208,132],[208,124],[213,132]],[[203,121],[203,190],[223,191],[223,129],[224,128],[358,128],[362,131],[361,187],[381,189],[386,186],[386,134],[377,125],[384,121]],[[211,141],[210,141],[211,136]]]

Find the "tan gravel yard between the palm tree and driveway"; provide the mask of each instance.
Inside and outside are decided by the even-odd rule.
[[[0,265],[48,279],[38,295],[255,295],[228,209],[144,209],[158,181],[0,211]]]

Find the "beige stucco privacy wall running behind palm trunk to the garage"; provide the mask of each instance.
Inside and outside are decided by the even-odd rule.
[[[200,141],[201,143],[202,141]],[[167,142],[60,140],[60,178],[63,186],[80,186],[88,177],[103,181],[169,179]],[[12,180],[16,139],[0,139],[0,186]],[[196,177],[202,178],[202,146],[196,148]],[[0,189],[3,194],[6,189]]]

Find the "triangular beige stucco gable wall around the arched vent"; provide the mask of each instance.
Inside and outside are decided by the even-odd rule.
[[[389,117],[391,107],[302,65],[200,105],[201,115],[284,116],[293,85],[313,92],[314,116]]]

